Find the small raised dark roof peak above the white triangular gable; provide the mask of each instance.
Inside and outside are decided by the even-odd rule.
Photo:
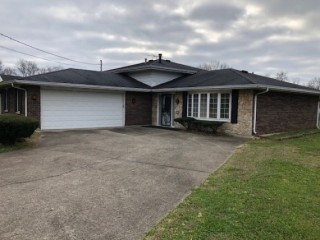
[[[161,62],[159,62],[159,60],[149,60],[143,63],[111,69],[111,70],[108,70],[108,72],[125,73],[125,72],[146,70],[146,69],[153,69],[153,70],[165,69],[167,71],[172,70],[172,71],[181,72],[181,73],[196,73],[199,71],[204,71],[203,69],[200,69],[200,68],[191,67],[191,66],[187,66],[180,63],[171,62],[169,60],[162,59]]]

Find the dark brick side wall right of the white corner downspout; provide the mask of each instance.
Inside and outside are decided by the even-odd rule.
[[[318,96],[269,92],[258,96],[258,134],[316,128]]]

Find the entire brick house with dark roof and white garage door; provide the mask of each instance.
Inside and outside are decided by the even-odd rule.
[[[320,127],[320,91],[223,69],[205,71],[159,59],[96,72],[66,69],[1,76],[1,112],[39,119],[41,129],[154,125],[177,117],[224,122],[251,136]]]

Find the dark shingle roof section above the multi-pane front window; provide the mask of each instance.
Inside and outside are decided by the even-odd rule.
[[[176,78],[156,86],[161,88],[190,88],[190,87],[226,87],[240,85],[268,85],[274,87],[296,88],[304,90],[314,90],[301,85],[282,82],[273,78],[243,72],[236,69],[221,69],[214,71],[198,72],[191,76]]]

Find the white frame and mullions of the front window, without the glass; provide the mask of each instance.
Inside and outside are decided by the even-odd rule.
[[[221,118],[221,94],[229,94],[229,118]],[[188,117],[193,117],[195,119],[199,120],[206,120],[206,121],[219,121],[219,122],[231,122],[231,103],[232,103],[232,94],[230,91],[220,91],[220,92],[189,92],[188,97],[187,97],[187,106],[189,106],[189,95],[192,95],[191,97],[191,112],[189,112],[189,108],[187,109],[187,116]],[[194,94],[198,94],[198,116],[194,117],[193,116],[193,106],[194,106],[194,101],[193,101],[193,96]],[[201,94],[206,94],[207,95],[207,116],[206,117],[200,117],[200,105],[201,105]],[[210,94],[217,94],[217,118],[210,118]]]

